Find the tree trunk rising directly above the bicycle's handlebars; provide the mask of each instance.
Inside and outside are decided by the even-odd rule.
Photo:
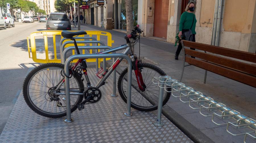
[[[133,30],[133,1],[125,0],[125,10],[126,10],[126,31],[130,34]]]

